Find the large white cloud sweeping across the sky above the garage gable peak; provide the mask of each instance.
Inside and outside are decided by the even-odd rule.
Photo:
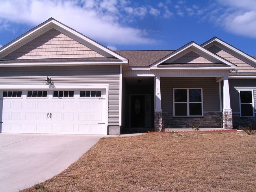
[[[5,0],[0,4],[0,30],[13,24],[33,27],[53,17],[106,44],[154,43],[155,40],[148,38],[144,30],[122,24],[122,20],[129,17],[123,14],[124,10],[138,17],[145,17],[148,13],[146,7],[129,8],[126,7],[128,4],[126,0]]]

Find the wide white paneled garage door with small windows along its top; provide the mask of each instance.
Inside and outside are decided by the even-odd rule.
[[[3,90],[2,133],[105,134],[104,90]]]

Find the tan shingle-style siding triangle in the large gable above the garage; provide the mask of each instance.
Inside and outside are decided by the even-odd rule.
[[[103,57],[63,33],[51,29],[3,59]]]

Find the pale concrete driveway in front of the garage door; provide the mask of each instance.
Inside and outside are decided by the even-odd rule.
[[[0,191],[16,192],[59,174],[101,137],[0,133]]]

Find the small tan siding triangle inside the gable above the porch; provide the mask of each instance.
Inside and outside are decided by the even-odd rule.
[[[208,59],[196,54],[195,52],[191,51],[186,55],[176,59],[172,63],[212,63]]]

